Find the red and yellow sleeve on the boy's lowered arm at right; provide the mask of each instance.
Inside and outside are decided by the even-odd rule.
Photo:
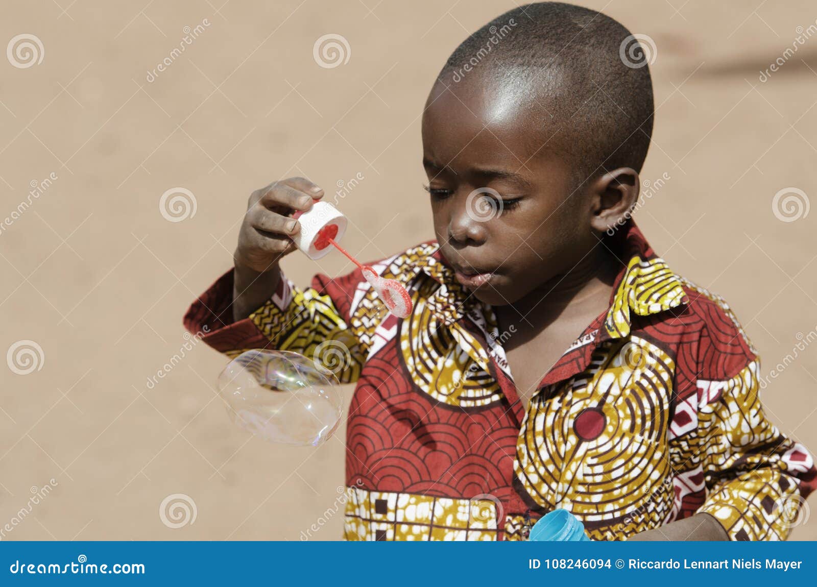
[[[767,419],[760,361],[721,298],[698,305],[706,327],[699,347],[698,437],[707,496],[732,540],[785,540],[817,487],[813,457]]]

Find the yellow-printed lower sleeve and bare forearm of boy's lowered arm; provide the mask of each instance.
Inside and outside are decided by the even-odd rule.
[[[729,380],[698,380],[703,505],[628,540],[785,540],[797,525],[817,469],[806,447],[766,419],[753,358]]]

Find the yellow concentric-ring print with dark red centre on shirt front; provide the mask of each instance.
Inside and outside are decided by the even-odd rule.
[[[674,369],[663,350],[632,336],[600,345],[582,374],[531,398],[514,466],[533,500],[569,509],[592,537],[663,522],[674,496],[665,482]]]

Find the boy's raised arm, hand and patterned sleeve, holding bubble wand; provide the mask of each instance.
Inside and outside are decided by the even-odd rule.
[[[312,207],[324,190],[302,177],[275,181],[250,194],[234,269],[205,291],[185,315],[185,327],[214,349],[236,356],[248,349],[303,354],[342,383],[359,376],[365,354],[346,326],[359,271],[337,280],[319,275],[301,290],[283,276],[279,261],[295,251],[296,212]]]

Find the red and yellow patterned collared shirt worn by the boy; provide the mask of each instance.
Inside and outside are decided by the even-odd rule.
[[[519,540],[555,508],[593,540],[699,512],[733,540],[784,540],[817,469],[764,415],[756,350],[725,301],[673,273],[632,221],[607,240],[623,264],[609,309],[527,406],[493,309],[453,278],[436,242],[372,264],[408,288],[408,318],[387,314],[355,269],[306,289],[283,277],[233,322],[230,271],[185,327],[207,326],[203,340],[230,356],[331,354],[338,379],[357,383],[348,540]]]

